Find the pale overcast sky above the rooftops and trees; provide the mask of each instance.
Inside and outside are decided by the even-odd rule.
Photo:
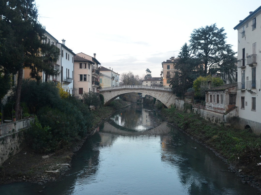
[[[74,53],[96,59],[122,74],[160,77],[161,63],[177,57],[193,29],[224,27],[227,44],[237,51],[234,27],[256,10],[260,0],[35,0],[39,22]]]

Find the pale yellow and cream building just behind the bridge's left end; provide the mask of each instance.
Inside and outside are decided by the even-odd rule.
[[[119,86],[120,75],[114,72],[111,67],[108,69],[100,66],[98,70],[100,72],[100,86],[102,88]]]

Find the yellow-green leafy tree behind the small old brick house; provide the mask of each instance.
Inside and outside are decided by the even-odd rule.
[[[207,81],[211,81],[211,88],[218,87],[224,84],[223,80],[219,77],[199,76],[193,82],[193,89],[195,90],[195,96],[205,97],[205,89],[208,88]]]

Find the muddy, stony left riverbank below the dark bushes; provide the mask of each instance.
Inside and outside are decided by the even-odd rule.
[[[53,153],[35,153],[32,148],[26,147],[20,153],[11,156],[0,167],[0,184],[11,182],[32,182],[44,184],[55,181],[59,176],[70,169],[73,156],[81,148],[85,140],[92,135],[95,128],[110,115],[119,109],[131,105],[129,102],[114,102],[111,106],[102,107],[93,114],[93,125],[88,135],[76,142],[69,144],[66,148]]]

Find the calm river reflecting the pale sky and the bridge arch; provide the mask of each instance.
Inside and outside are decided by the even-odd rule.
[[[0,186],[0,194],[258,194],[213,152],[134,104],[104,121],[55,182]]]

